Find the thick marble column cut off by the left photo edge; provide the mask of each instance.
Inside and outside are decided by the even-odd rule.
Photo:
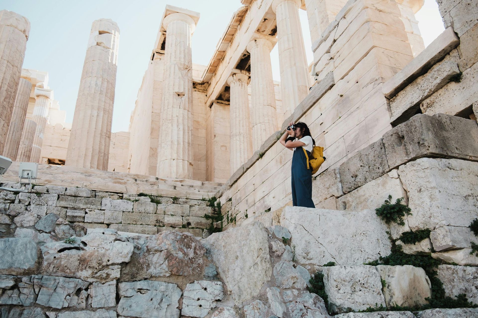
[[[0,154],[7,141],[29,33],[27,18],[0,10]]]

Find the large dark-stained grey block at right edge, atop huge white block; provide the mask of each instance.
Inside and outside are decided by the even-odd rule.
[[[417,114],[383,135],[390,168],[425,156],[478,160],[475,121],[445,114]]]

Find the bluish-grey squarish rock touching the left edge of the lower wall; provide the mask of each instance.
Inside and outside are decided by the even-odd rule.
[[[38,246],[29,238],[0,238],[2,274],[28,275],[37,268]]]

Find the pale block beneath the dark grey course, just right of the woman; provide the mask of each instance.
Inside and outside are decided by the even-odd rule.
[[[401,198],[402,204],[407,204],[407,193],[398,178],[397,170],[384,174],[375,180],[343,195],[337,199],[337,208],[344,211],[361,211],[376,209],[391,195],[392,198]]]

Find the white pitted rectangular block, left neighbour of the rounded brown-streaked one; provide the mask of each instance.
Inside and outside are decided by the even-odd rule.
[[[331,266],[323,268],[329,309],[342,313],[385,306],[380,274],[373,266]]]

